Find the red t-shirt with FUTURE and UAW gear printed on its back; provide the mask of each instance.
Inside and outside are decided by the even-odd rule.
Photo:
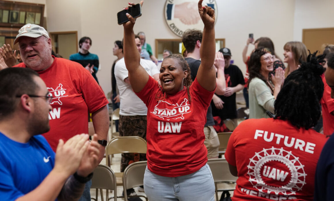
[[[280,119],[241,122],[225,153],[239,177],[232,200],[313,200],[316,166],[325,142],[325,135]]]

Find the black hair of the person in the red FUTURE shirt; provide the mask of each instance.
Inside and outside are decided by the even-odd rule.
[[[310,53],[307,61],[285,78],[275,101],[275,118],[288,120],[297,128],[315,126],[321,115],[319,101],[324,84],[320,76],[325,68],[319,64],[322,57],[317,58],[316,54]]]

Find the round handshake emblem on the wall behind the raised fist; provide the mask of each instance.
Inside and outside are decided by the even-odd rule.
[[[217,21],[217,4],[215,0],[203,0],[202,6],[215,10]],[[165,20],[176,35],[182,37],[187,29],[203,30],[204,25],[198,13],[198,0],[167,0],[165,3]]]

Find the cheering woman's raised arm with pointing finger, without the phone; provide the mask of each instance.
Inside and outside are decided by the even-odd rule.
[[[198,12],[204,23],[203,37],[200,48],[201,65],[197,72],[198,83],[206,90],[213,91],[216,87],[216,71],[213,66],[215,57],[215,31],[214,10],[208,6],[202,6],[202,1],[198,2]]]

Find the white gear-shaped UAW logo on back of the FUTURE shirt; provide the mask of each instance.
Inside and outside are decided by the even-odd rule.
[[[306,184],[304,165],[291,151],[272,147],[255,153],[249,160],[249,182],[260,192],[294,195]]]

